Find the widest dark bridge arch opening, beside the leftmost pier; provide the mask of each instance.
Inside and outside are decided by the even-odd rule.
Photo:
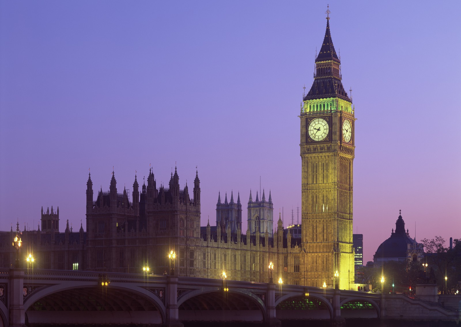
[[[24,303],[26,319],[47,321],[47,313],[53,311],[54,323],[124,323],[165,322],[165,306],[154,293],[140,287],[111,283],[98,286],[95,282],[66,282],[39,289]],[[82,311],[93,311],[91,321]],[[95,320],[96,319],[96,320]]]

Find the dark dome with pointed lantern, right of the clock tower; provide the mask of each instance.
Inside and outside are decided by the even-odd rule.
[[[408,246],[409,244],[411,246]],[[417,245],[418,242],[408,235],[408,231],[405,231],[405,222],[402,219],[402,212],[400,212],[396,221],[396,231],[394,232],[392,229],[390,238],[379,245],[378,250],[376,250],[373,256],[373,260],[376,262],[377,259],[406,259],[408,257],[408,249],[416,248]]]

